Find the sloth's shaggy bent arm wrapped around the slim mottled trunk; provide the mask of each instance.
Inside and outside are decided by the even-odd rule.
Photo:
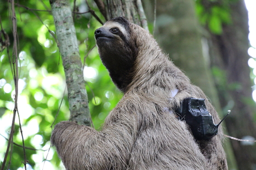
[[[102,131],[70,121],[62,121],[54,127],[51,141],[56,146],[66,169],[126,167],[126,160],[136,134],[133,132],[134,116],[112,115],[111,121]]]

